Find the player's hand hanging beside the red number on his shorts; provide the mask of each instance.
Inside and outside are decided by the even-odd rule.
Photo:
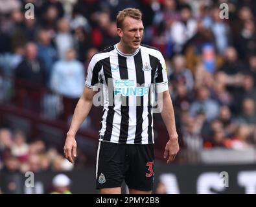
[[[163,154],[163,158],[167,158],[167,164],[172,162],[178,151],[180,150],[179,142],[178,142],[178,135],[174,138],[170,138],[165,146],[165,153]]]

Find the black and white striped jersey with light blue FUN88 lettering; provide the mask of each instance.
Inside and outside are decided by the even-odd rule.
[[[168,90],[165,60],[159,50],[141,45],[134,54],[123,54],[117,45],[109,47],[91,59],[86,85],[91,89],[101,85],[100,140],[154,143],[154,94]]]

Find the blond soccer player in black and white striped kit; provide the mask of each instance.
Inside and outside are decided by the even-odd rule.
[[[162,96],[157,103],[163,105],[161,116],[169,133],[164,152],[167,164],[179,151],[165,60],[159,50],[141,45],[141,16],[141,11],[135,8],[126,8],[117,15],[117,34],[121,40],[91,58],[86,87],[67,132],[64,153],[73,163],[76,132],[91,109],[95,88],[100,83],[104,96],[96,166],[100,193],[121,193],[123,180],[130,193],[152,193],[155,93]]]

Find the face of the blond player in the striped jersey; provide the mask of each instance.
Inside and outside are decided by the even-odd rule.
[[[139,48],[143,37],[143,23],[141,20],[125,17],[122,25],[122,29],[117,28],[121,42],[128,51],[135,52]]]

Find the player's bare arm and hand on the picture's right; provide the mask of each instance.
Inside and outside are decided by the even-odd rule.
[[[176,131],[174,109],[169,91],[164,91],[162,93],[162,102],[161,116],[169,134],[169,141],[165,146],[165,153],[163,154],[163,157],[167,158],[168,164],[174,160],[180,150],[180,147],[178,142],[178,133]]]

